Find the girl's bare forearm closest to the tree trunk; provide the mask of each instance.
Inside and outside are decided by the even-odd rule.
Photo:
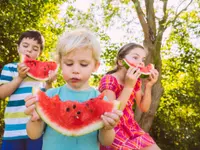
[[[152,86],[146,85],[144,89],[144,95],[142,97],[140,108],[143,112],[147,112],[151,105],[151,89]]]

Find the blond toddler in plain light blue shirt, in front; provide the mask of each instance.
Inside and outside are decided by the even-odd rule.
[[[97,97],[99,92],[89,86],[88,80],[99,67],[100,51],[98,41],[89,31],[81,29],[64,33],[58,42],[57,55],[67,84],[48,90],[47,95],[53,97],[58,94],[62,101],[79,102]],[[27,97],[26,114],[32,115],[36,101],[35,96]],[[112,144],[115,136],[113,127],[120,116],[122,112],[117,110],[105,113],[102,115],[104,128],[79,137],[58,133],[37,116],[27,123],[27,132],[31,139],[39,138],[44,132],[42,150],[98,150],[99,142],[102,145]]]

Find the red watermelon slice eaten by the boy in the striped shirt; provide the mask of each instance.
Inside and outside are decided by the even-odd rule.
[[[30,68],[27,75],[39,81],[47,81],[49,79],[49,71],[58,71],[58,65],[54,61],[42,62],[26,55],[21,55],[21,62]]]

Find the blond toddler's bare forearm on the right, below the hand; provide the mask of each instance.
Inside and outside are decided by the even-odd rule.
[[[110,129],[110,130],[101,129],[101,130],[99,130],[99,142],[102,145],[104,145],[104,146],[111,145],[112,142],[114,141],[114,138],[115,138],[114,129]]]

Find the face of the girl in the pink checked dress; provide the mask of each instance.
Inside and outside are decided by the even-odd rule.
[[[138,67],[144,67],[146,53],[142,48],[134,48],[125,56],[125,58]]]

